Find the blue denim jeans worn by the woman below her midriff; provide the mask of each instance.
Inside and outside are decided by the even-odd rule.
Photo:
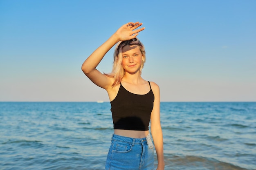
[[[105,170],[154,170],[154,146],[144,138],[112,135]]]

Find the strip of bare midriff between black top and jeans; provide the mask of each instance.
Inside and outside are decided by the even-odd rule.
[[[148,135],[149,130],[124,130],[114,129],[114,134],[132,138],[144,138]]]

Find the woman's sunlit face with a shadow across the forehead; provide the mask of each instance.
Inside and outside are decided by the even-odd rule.
[[[128,73],[137,73],[142,64],[142,54],[138,46],[126,45],[122,49],[122,66]]]

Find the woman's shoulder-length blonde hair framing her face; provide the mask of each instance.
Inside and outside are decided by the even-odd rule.
[[[141,74],[142,68],[144,67],[144,63],[146,62],[146,52],[144,45],[139,41],[137,38],[133,38],[131,40],[126,40],[126,41],[120,41],[117,43],[115,47],[115,52],[114,52],[114,62],[113,62],[113,68],[112,72],[109,74],[105,74],[108,77],[114,78],[114,83],[112,84],[112,87],[117,85],[119,82],[121,82],[121,79],[124,77],[124,68],[122,67],[121,63],[123,60],[122,56],[122,49],[126,45],[136,45],[139,47],[139,50],[142,54],[142,62],[141,62],[141,67],[139,69],[139,73]]]

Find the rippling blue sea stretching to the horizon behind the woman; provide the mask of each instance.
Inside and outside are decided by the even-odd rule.
[[[110,108],[0,102],[0,170],[104,170]],[[165,170],[256,170],[256,102],[161,102],[160,109]]]

